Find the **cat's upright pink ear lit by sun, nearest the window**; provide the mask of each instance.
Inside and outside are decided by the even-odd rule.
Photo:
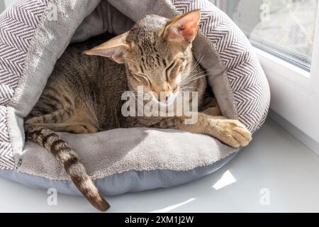
[[[164,38],[170,41],[191,43],[198,31],[201,11],[196,9],[172,18],[164,31]]]

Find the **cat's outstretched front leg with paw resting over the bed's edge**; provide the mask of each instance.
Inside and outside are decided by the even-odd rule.
[[[237,120],[223,116],[208,116],[203,113],[198,113],[197,122],[194,124],[186,124],[185,120],[186,117],[164,118],[156,126],[211,135],[233,148],[245,146],[252,140],[250,131]]]

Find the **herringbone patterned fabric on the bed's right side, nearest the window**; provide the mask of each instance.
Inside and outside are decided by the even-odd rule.
[[[239,120],[254,132],[264,123],[269,108],[269,87],[252,46],[244,33],[207,0],[171,0],[178,13],[201,9],[200,32],[213,43],[228,71]]]

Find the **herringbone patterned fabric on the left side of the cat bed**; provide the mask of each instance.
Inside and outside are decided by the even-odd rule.
[[[23,74],[26,54],[47,0],[21,0],[0,15],[0,170],[14,167],[7,109]]]

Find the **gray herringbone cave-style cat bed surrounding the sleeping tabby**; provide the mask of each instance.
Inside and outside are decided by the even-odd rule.
[[[146,14],[170,18],[201,9],[194,55],[224,116],[254,133],[267,116],[269,87],[245,35],[209,1],[21,0],[0,16],[0,176],[32,187],[79,194],[44,148],[25,143],[23,118],[69,43],[108,31],[127,31]],[[151,128],[95,134],[61,133],[79,154],[102,194],[177,184],[218,170],[237,153],[206,135]]]

